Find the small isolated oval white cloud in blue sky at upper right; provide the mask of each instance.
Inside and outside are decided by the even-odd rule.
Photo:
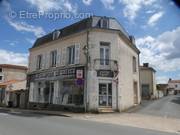
[[[154,26],[163,15],[164,15],[164,12],[162,11],[153,14],[148,20],[148,25]]]

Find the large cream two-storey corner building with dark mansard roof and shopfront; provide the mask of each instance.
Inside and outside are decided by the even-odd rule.
[[[123,111],[139,104],[139,50],[115,18],[93,16],[30,48],[29,107]]]

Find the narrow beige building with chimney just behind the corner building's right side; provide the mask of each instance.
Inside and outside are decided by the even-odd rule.
[[[156,71],[148,63],[140,66],[140,85],[143,99],[158,98],[156,89]]]

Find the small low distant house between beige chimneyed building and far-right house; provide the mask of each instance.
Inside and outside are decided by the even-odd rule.
[[[168,84],[157,84],[158,97],[163,97],[168,95]]]

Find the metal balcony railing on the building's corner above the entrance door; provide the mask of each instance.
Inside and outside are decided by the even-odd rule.
[[[112,59],[94,59],[94,69],[118,71],[118,62]]]

